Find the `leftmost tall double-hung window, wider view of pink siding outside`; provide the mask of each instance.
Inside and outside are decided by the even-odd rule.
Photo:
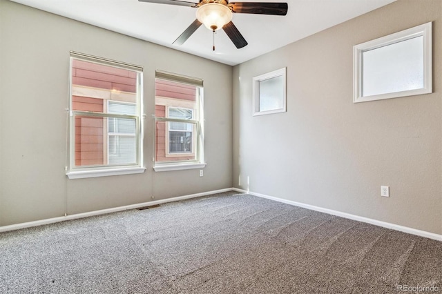
[[[142,68],[71,52],[70,179],[142,173]]]

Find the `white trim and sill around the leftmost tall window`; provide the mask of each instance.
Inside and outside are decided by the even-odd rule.
[[[104,64],[108,66],[114,66],[119,68],[124,68],[127,70],[133,70],[136,71],[139,75],[139,79],[137,81],[137,163],[131,164],[131,165],[120,165],[120,166],[85,166],[85,167],[76,167],[75,166],[75,115],[72,108],[72,97],[73,93],[79,89],[79,87],[75,87],[72,84],[72,67],[73,67],[73,59],[88,61],[88,62],[95,62],[99,64]],[[113,176],[113,175],[131,175],[131,174],[137,174],[137,173],[144,173],[144,170],[146,168],[143,166],[144,159],[143,159],[143,140],[144,140],[144,117],[145,115],[142,113],[143,108],[143,68],[141,66],[134,66],[129,63],[121,63],[119,61],[112,61],[108,59],[102,59],[101,57],[93,57],[90,55],[84,55],[82,53],[78,52],[70,52],[70,66],[69,66],[69,107],[70,110],[68,111],[69,116],[69,152],[68,152],[68,165],[66,166],[66,175],[68,176],[68,179],[82,179],[82,178],[88,178],[88,177],[105,177],[105,176]],[[81,87],[80,87],[81,88]],[[88,87],[84,87],[88,88]],[[127,95],[126,95],[127,96]],[[124,97],[117,95],[116,97]],[[124,100],[124,99],[122,99]],[[107,106],[107,105],[106,105]],[[106,128],[106,135],[107,135],[107,128]],[[107,153],[107,150],[104,151]]]

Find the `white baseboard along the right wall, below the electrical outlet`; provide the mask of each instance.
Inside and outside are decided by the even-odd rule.
[[[349,213],[343,213],[337,210],[332,210],[332,209],[328,209],[328,208],[322,208],[322,207],[318,207],[318,206],[314,206],[314,205],[309,205],[309,204],[303,204],[300,202],[294,202],[291,200],[287,200],[287,199],[281,199],[278,197],[273,197],[273,196],[269,196],[269,195],[264,195],[264,194],[260,194],[260,193],[254,193],[251,191],[247,191],[247,190],[242,190],[242,189],[238,189],[238,188],[233,188],[232,190],[239,192],[239,193],[248,193],[250,195],[253,196],[258,196],[258,197],[262,197],[262,198],[266,198],[266,199],[270,199],[270,200],[274,200],[274,201],[278,201],[278,202],[282,202],[285,204],[290,204],[290,205],[294,205],[294,206],[299,206],[302,208],[307,208],[307,209],[311,209],[311,210],[316,210],[319,211],[320,213],[327,213],[329,215],[336,215],[338,217],[344,217],[346,219],[353,219],[356,220],[358,222],[365,222],[367,224],[374,224],[375,226],[382,226],[383,228],[391,228],[392,230],[396,230],[396,231],[401,231],[404,233],[409,233],[412,235],[418,235],[421,237],[427,237],[430,239],[435,239],[438,241],[442,241],[442,235],[439,234],[435,234],[435,233],[430,233],[427,231],[421,231],[421,230],[417,230],[416,228],[409,228],[407,226],[400,226],[398,224],[391,224],[389,222],[381,222],[378,221],[376,219],[369,219],[368,217],[360,217],[358,215],[352,215]]]

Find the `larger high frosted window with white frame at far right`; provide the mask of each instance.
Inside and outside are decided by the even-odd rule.
[[[432,23],[354,46],[354,98],[364,102],[432,92]]]

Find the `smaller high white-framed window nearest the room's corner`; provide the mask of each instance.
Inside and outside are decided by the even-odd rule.
[[[286,112],[286,68],[253,77],[253,115]]]

